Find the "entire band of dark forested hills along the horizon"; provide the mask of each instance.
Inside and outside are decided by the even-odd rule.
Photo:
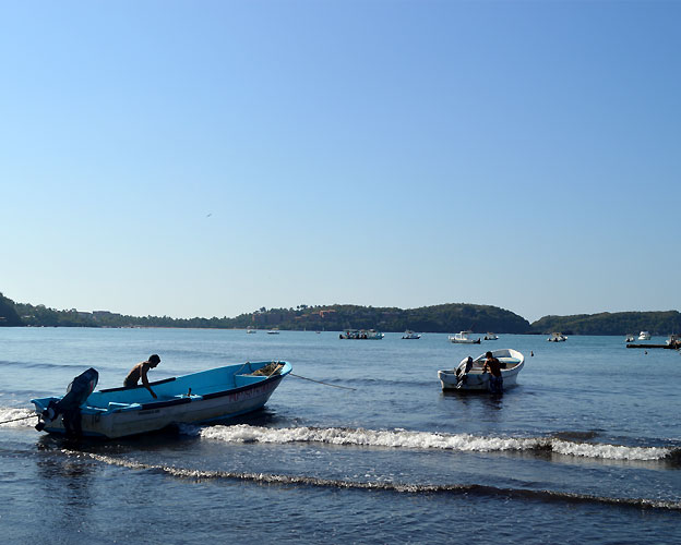
[[[543,316],[530,324],[498,306],[449,303],[419,308],[360,305],[298,305],[295,308],[261,307],[236,317],[172,318],[124,314],[59,311],[45,305],[14,303],[0,293],[0,326],[34,327],[178,327],[215,329],[327,330],[378,329],[381,331],[456,332],[471,330],[499,334],[626,335],[648,330],[653,335],[681,332],[678,311],[620,312]]]

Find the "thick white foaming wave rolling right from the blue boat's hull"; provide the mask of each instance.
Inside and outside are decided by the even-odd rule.
[[[628,447],[596,443],[577,443],[559,437],[478,437],[469,434],[438,434],[406,429],[374,431],[343,427],[259,427],[248,424],[211,426],[196,432],[202,438],[225,443],[321,443],[365,447],[440,449],[464,452],[550,451],[565,456],[604,460],[662,460],[678,449],[665,447]]]

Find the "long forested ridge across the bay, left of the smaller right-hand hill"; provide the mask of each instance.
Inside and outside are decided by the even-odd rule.
[[[8,300],[9,301],[9,300]],[[12,303],[10,301],[10,303]],[[13,303],[12,303],[13,304]],[[443,304],[420,308],[372,307],[357,305],[308,306],[296,308],[260,308],[236,318],[171,318],[168,316],[127,316],[106,311],[57,311],[45,305],[15,304],[26,326],[62,327],[199,327],[294,330],[380,329],[381,331],[457,332],[471,329],[478,332],[523,334],[529,322],[497,306],[473,304]],[[8,324],[9,325],[9,324]],[[12,324],[17,325],[17,324]]]

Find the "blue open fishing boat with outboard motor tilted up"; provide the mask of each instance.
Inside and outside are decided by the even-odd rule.
[[[126,437],[170,424],[204,424],[256,411],[291,370],[288,362],[226,365],[150,383],[156,399],[144,386],[93,391],[98,375],[88,370],[73,380],[62,398],[31,402],[39,417],[38,429]]]

